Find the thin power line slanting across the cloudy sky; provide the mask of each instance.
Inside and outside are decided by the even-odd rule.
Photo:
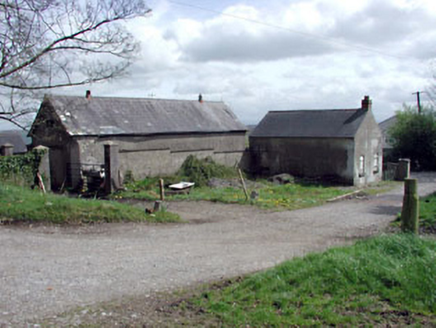
[[[332,43],[332,44],[336,44],[336,45],[340,45],[340,46],[345,46],[345,47],[348,47],[348,48],[355,48],[355,49],[358,49],[358,50],[364,50],[364,51],[367,51],[367,52],[376,53],[378,55],[382,55],[382,56],[385,56],[385,57],[392,57],[392,58],[396,58],[396,59],[412,59],[411,57],[392,55],[392,54],[385,53],[385,52],[383,52],[381,50],[378,50],[378,49],[361,46],[361,45],[354,44],[354,43],[351,43],[351,42],[341,41],[341,40],[338,40],[338,39],[335,39],[335,38],[331,38],[331,37],[327,37],[327,36],[323,36],[323,35],[319,35],[319,34],[302,32],[302,31],[299,31],[299,30],[291,29],[289,27],[283,27],[283,26],[280,26],[280,25],[275,25],[275,24],[271,24],[271,23],[267,23],[267,22],[263,22],[263,21],[259,21],[259,20],[255,20],[255,19],[251,19],[251,18],[246,18],[246,17],[242,17],[242,16],[238,16],[238,15],[228,14],[228,13],[224,13],[222,11],[215,10],[215,9],[210,9],[210,8],[206,8],[206,7],[192,5],[192,4],[188,4],[188,3],[184,3],[184,2],[180,2],[180,1],[173,1],[173,0],[167,0],[167,1],[169,3],[175,4],[175,5],[179,5],[179,6],[183,6],[183,7],[188,7],[188,8],[194,8],[194,9],[198,9],[198,10],[202,10],[202,11],[218,14],[218,15],[221,15],[221,16],[231,17],[231,18],[234,18],[234,19],[243,20],[243,21],[246,21],[246,22],[249,22],[249,23],[253,23],[253,24],[257,24],[257,25],[262,25],[262,26],[266,26],[266,27],[270,27],[270,28],[275,28],[275,29],[279,29],[279,30],[282,30],[282,31],[286,31],[286,32],[291,32],[291,33],[294,33],[294,34],[299,34],[299,35],[307,37],[307,38],[318,39],[318,40],[321,40],[321,41],[327,42],[327,43]]]

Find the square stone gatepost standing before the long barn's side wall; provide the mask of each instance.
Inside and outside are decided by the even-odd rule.
[[[106,194],[112,193],[121,187],[119,180],[119,146],[109,142],[104,145],[104,191]]]

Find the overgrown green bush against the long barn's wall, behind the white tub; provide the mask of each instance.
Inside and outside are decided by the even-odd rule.
[[[237,172],[234,168],[216,163],[211,157],[198,159],[193,155],[189,155],[177,175],[195,182],[196,186],[202,187],[211,178],[233,178],[237,176]]]

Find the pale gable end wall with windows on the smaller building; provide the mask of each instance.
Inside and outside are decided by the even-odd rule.
[[[372,113],[363,120],[355,137],[354,185],[381,181],[383,177],[383,136]],[[361,157],[364,159],[362,172]]]

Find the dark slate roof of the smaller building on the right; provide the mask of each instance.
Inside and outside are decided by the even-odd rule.
[[[361,108],[270,111],[251,137],[353,138],[366,113]]]

